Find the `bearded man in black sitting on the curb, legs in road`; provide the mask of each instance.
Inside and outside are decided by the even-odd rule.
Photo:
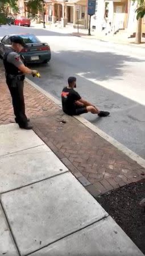
[[[68,78],[68,86],[64,87],[61,92],[61,100],[63,112],[68,115],[80,115],[91,112],[98,114],[99,117],[107,117],[109,112],[100,111],[96,106],[81,98],[81,96],[73,89],[76,88],[76,77]]]

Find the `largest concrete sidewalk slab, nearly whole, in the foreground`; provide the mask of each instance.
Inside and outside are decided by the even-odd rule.
[[[108,216],[70,172],[2,194],[1,201],[21,255]]]

